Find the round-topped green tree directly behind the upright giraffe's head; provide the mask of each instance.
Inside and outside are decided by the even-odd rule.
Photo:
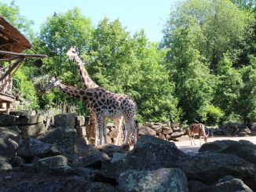
[[[82,16],[79,8],[67,13],[54,14],[42,24],[38,39],[34,44],[38,52],[49,56],[43,71],[57,76],[68,76],[68,82],[79,82],[79,74],[73,62],[68,62],[65,53],[71,46],[87,49],[93,31],[90,19]],[[67,74],[65,74],[67,73]],[[76,75],[77,74],[77,75]]]

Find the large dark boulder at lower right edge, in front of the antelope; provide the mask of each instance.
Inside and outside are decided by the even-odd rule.
[[[223,176],[233,176],[244,180],[252,190],[256,188],[254,164],[239,158],[234,154],[221,154],[211,151],[198,153],[183,161],[178,166],[185,172],[188,180],[196,179],[209,185]]]

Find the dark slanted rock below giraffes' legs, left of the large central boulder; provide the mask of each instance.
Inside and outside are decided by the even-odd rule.
[[[73,166],[80,168],[101,168],[102,161],[110,160],[108,154],[104,152],[95,152],[84,158],[80,158],[73,163]]]

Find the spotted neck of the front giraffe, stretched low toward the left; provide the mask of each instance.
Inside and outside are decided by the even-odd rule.
[[[75,86],[71,86],[68,84],[65,84],[64,82],[59,82],[57,87],[64,92],[65,94],[75,97],[79,100],[87,100],[91,101],[93,100],[93,93],[86,89],[79,89]]]

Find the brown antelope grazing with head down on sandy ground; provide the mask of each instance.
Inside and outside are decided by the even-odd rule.
[[[207,134],[205,133],[205,129],[204,129],[204,125],[202,123],[197,123],[197,124],[192,124],[189,125],[188,128],[188,136],[191,137],[191,146],[192,146],[192,140],[196,146],[196,142],[194,137],[196,135],[199,135],[199,139],[200,139],[200,146],[201,146],[201,136],[203,136],[204,141],[207,143]]]

